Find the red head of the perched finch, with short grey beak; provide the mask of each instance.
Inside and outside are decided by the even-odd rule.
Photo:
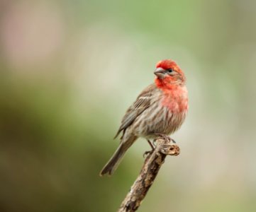
[[[172,59],[164,59],[157,63],[155,70],[156,83],[165,84],[166,86],[179,85],[184,86],[186,78],[182,69],[172,60]]]

